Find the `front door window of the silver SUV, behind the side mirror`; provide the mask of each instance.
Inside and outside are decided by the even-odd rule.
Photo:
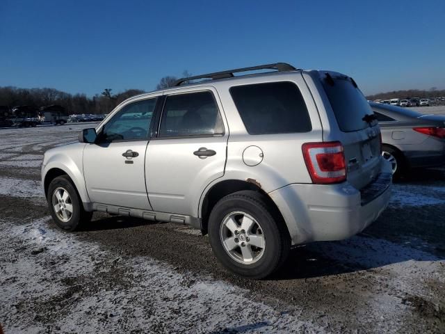
[[[149,138],[156,98],[137,101],[124,106],[106,122],[100,134],[100,141],[144,141]]]

